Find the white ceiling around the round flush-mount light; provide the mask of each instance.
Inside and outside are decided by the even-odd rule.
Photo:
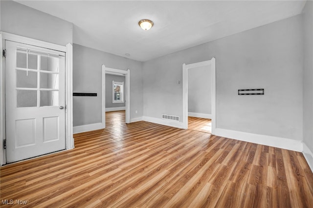
[[[73,42],[147,61],[300,14],[305,1],[17,0],[73,23]],[[141,19],[154,21],[144,31]],[[128,53],[130,56],[126,56]]]

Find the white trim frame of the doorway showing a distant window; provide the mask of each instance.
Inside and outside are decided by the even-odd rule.
[[[106,67],[104,64],[102,65],[102,126],[106,127],[106,74],[125,76],[125,85],[126,85],[126,94],[125,94],[125,122],[129,124],[131,121],[130,117],[130,101],[131,101],[131,70],[127,69],[120,70]]]

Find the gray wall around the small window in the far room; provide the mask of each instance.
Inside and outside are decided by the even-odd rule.
[[[112,74],[106,74],[106,107],[125,107],[125,102],[122,104],[113,104],[113,85],[112,81],[115,82],[124,82],[124,94],[123,94],[123,101],[125,101],[125,77],[124,76],[117,76]]]

